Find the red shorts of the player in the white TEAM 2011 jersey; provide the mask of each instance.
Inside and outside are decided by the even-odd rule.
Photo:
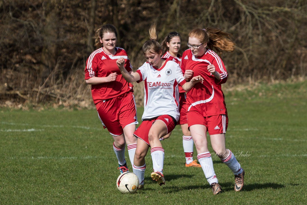
[[[149,133],[151,126],[156,120],[162,120],[165,123],[166,128],[167,128],[167,133],[172,132],[176,126],[176,122],[173,120],[171,116],[160,115],[156,119],[143,121],[133,134],[136,137],[143,140],[144,142],[146,142],[150,146],[149,140],[148,140],[148,133]]]

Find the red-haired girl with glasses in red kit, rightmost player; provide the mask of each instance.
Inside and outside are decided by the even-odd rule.
[[[219,29],[193,29],[187,43],[190,49],[182,54],[181,68],[185,77],[200,75],[202,84],[196,84],[187,93],[188,126],[195,142],[197,159],[212,187],[213,194],[220,193],[213,169],[211,154],[207,147],[206,133],[209,132],[212,148],[216,155],[233,171],[235,191],[244,185],[244,170],[235,156],[225,147],[228,117],[221,84],[227,80],[227,71],[219,53],[233,51],[234,42],[230,34]],[[207,48],[208,46],[208,48]]]

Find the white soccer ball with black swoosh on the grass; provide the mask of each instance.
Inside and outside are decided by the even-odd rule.
[[[138,176],[130,171],[120,174],[116,180],[116,187],[122,193],[135,193],[138,185]]]

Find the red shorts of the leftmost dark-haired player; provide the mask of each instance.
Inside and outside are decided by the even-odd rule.
[[[113,136],[121,135],[126,125],[138,124],[134,95],[130,92],[101,101],[96,108],[103,128]]]

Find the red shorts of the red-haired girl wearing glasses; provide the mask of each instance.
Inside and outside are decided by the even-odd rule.
[[[202,124],[207,127],[209,135],[226,133],[228,127],[227,115],[213,115],[204,117],[197,111],[187,112],[188,127],[194,124]]]

